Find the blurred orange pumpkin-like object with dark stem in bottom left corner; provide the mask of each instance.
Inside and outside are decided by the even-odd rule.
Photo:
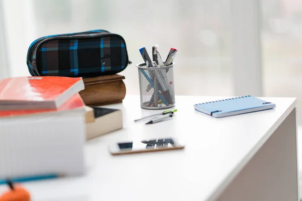
[[[11,181],[8,181],[11,189],[0,196],[0,201],[30,201],[29,192],[21,185],[13,186]]]

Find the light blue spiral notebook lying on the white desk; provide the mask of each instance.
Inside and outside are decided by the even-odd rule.
[[[195,110],[213,117],[228,117],[275,108],[276,105],[251,95],[195,104]]]

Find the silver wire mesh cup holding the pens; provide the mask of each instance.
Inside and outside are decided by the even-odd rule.
[[[140,92],[140,107],[160,110],[175,106],[173,66],[146,67],[137,64]]]

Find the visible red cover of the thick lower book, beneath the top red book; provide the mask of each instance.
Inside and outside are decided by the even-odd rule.
[[[70,110],[84,109],[84,102],[79,93],[74,94],[58,109],[48,110],[12,110],[12,111],[0,111],[0,118],[4,117],[16,117],[23,115],[40,115],[52,112],[64,112]]]

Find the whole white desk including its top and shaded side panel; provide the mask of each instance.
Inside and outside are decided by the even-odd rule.
[[[265,98],[277,108],[216,119],[193,104],[220,97],[177,96],[173,119],[134,123],[160,111],[126,96],[124,128],[86,146],[87,174],[24,185],[33,200],[298,200],[295,98]],[[111,156],[108,143],[177,137],[184,150]],[[0,186],[0,192],[6,187]]]

